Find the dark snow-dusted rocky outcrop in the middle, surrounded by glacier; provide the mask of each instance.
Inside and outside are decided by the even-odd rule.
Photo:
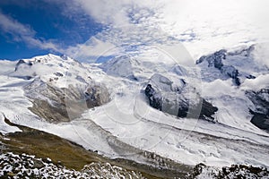
[[[151,107],[165,113],[213,121],[213,115],[218,108],[191,90],[193,89],[184,80],[175,86],[167,77],[154,74],[144,93]],[[189,98],[189,93],[194,93],[195,97]]]

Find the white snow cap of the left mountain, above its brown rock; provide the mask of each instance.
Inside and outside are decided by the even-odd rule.
[[[19,60],[9,75],[26,80],[38,77],[56,87],[65,88],[70,83],[90,81],[88,73],[88,69],[73,58],[48,54]]]

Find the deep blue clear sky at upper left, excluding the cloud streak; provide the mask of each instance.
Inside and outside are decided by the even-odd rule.
[[[52,41],[60,47],[74,46],[85,42],[102,29],[102,25],[91,16],[83,13],[65,14],[65,4],[54,2],[0,1],[0,14],[8,20],[28,27],[32,38],[46,43]],[[76,21],[79,19],[80,21]],[[21,30],[20,27],[15,27]],[[48,53],[61,54],[54,49],[30,44],[20,37],[17,30],[9,31],[0,28],[0,58],[15,60]],[[27,34],[25,34],[27,35]]]

